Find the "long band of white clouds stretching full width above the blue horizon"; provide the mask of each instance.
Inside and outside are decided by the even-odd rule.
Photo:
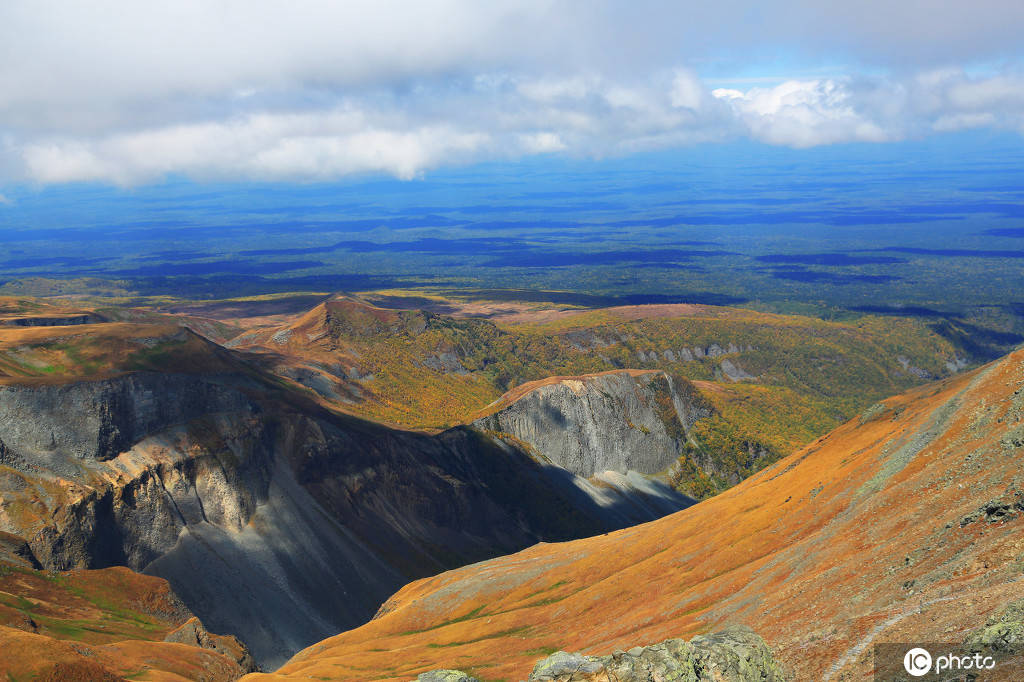
[[[40,135],[8,150],[38,182],[196,178],[412,178],[447,164],[563,153],[603,157],[750,137],[808,147],[977,127],[1024,129],[1013,77],[946,71],[889,79],[785,81],[709,91],[689,72],[628,84],[490,75],[461,88],[353,96],[328,108],[226,120]],[[443,96],[438,94],[442,89]]]

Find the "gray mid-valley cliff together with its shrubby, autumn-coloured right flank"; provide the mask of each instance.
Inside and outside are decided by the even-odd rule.
[[[578,476],[644,474],[702,498],[779,457],[753,429],[737,433],[710,399],[735,400],[735,390],[658,370],[552,377],[509,391],[472,424]],[[731,404],[725,410],[737,414]]]

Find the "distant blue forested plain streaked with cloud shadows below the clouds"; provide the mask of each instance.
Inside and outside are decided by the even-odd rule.
[[[0,291],[555,292],[540,296],[923,316],[1005,347],[1024,341],[1022,162],[1019,137],[986,134],[541,158],[411,180],[5,187]]]

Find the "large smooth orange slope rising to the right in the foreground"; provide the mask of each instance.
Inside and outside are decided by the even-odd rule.
[[[887,399],[675,515],[413,583],[278,677],[517,680],[551,649],[743,624],[794,679],[864,679],[873,642],[963,642],[1024,597],[1022,449],[1017,351]]]

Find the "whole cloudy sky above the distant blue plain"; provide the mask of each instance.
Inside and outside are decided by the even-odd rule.
[[[1024,134],[1020,0],[0,3],[5,185]]]

